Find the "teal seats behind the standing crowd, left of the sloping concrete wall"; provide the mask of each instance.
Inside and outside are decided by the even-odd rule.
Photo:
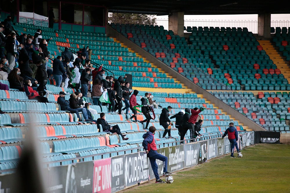
[[[19,34],[34,34],[37,26],[17,23],[14,28]],[[26,29],[26,31],[24,31]],[[129,52],[128,48],[122,47],[113,38],[106,37],[104,33],[88,33],[77,31],[56,30],[42,28],[43,38],[52,40],[48,43],[50,58],[61,55],[64,47],[69,47],[74,52],[79,51],[83,46],[89,46],[93,50],[91,60],[98,65],[105,65],[106,69],[112,71],[115,76],[124,76],[131,73],[134,77],[132,86],[150,88],[182,88],[182,85],[175,83],[165,73],[160,73],[158,68],[151,67],[143,58],[137,57],[136,53]],[[52,61],[49,61],[52,63]],[[52,66],[52,64],[51,64]]]

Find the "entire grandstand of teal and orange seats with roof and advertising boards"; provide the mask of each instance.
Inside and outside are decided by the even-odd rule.
[[[0,83],[7,85],[0,87],[1,191],[117,192],[154,178],[142,146],[143,135],[148,131],[142,121],[147,117],[137,111],[138,121],[134,121],[130,118],[132,110],[129,114],[118,113],[110,109],[108,100],[96,103],[93,91],[90,92],[90,87],[96,85],[94,75],[88,76],[87,86],[83,82],[87,70],[104,71],[100,82],[112,76],[114,84],[122,84],[119,78],[125,77],[130,84],[128,89],[139,91],[136,95],[139,104],[146,93],[151,95],[156,106],[148,127],[157,129],[155,142],[160,153],[169,158],[171,171],[228,154],[230,144],[221,137],[231,122],[244,147],[277,142],[280,135],[289,134],[290,26],[270,25],[271,14],[289,13],[285,6],[289,2],[277,1],[275,6],[268,0],[215,3],[206,0],[198,2],[198,6],[196,3],[194,0],[155,0],[145,5],[115,0],[33,1],[29,7],[28,1],[17,0],[1,5],[0,31],[8,40],[1,39],[0,44],[1,57],[7,58],[1,59],[0,64]],[[130,23],[117,13],[168,15],[169,28]],[[258,34],[247,27],[184,26],[185,14],[259,14]],[[39,31],[41,41],[39,35],[35,36]],[[17,41],[12,38],[14,33]],[[25,35],[27,40],[21,42]],[[30,38],[34,38],[32,43]],[[14,41],[13,54],[5,46],[10,40]],[[23,67],[21,51],[21,45],[26,50],[26,44],[27,64],[31,60],[27,68],[33,72],[29,74]],[[73,58],[59,61],[68,51]],[[34,55],[42,54],[44,60],[34,60]],[[56,67],[62,62],[68,66],[59,75]],[[15,65],[11,67],[12,63]],[[46,66],[48,74],[42,91],[43,77],[38,74],[41,65]],[[77,74],[81,80],[73,82]],[[64,77],[63,81],[59,82],[58,75]],[[17,77],[24,79],[21,88],[15,87]],[[114,89],[112,92],[115,93]],[[40,97],[33,98],[35,93]],[[84,108],[62,109],[61,95],[70,104],[74,96],[82,98],[80,105]],[[92,109],[91,119],[84,113],[89,111],[85,103]],[[120,99],[120,103],[123,109],[126,100]],[[118,100],[117,104],[120,105]],[[199,114],[199,119],[204,120],[202,136],[193,139],[187,130],[181,140],[173,118],[171,137],[163,137],[165,129],[159,118],[162,109],[168,106],[172,107],[170,117],[186,108],[204,107]],[[108,124],[119,126],[119,134],[110,133],[95,121],[101,113],[105,113]],[[261,141],[262,137],[266,141]],[[195,161],[189,161],[191,158]],[[162,163],[158,163],[158,168],[162,170]]]

